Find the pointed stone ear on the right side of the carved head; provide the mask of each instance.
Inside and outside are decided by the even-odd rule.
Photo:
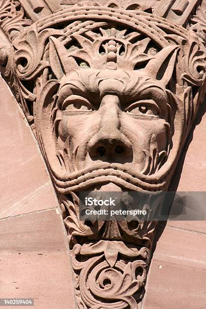
[[[179,48],[177,45],[170,45],[163,48],[146,65],[145,70],[147,74],[157,80],[161,80],[166,86],[172,77]]]

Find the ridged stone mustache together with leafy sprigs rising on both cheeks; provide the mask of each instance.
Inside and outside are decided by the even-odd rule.
[[[167,151],[158,151],[158,144],[154,134],[151,137],[149,151],[143,150],[145,165],[141,172],[135,170],[135,165],[133,168],[128,168],[120,163],[108,162],[97,163],[79,170],[76,160],[78,149],[79,145],[74,146],[71,138],[68,137],[65,142],[64,154],[58,153],[58,156],[62,159],[61,162],[64,163],[67,170],[67,175],[61,178],[61,180],[58,175],[55,175],[56,187],[61,193],[66,194],[70,190],[75,191],[106,182],[113,182],[128,190],[164,190],[166,181],[163,183],[160,181],[159,184],[152,183],[152,181],[148,182],[148,180],[145,181],[145,176],[155,174],[168,158]]]

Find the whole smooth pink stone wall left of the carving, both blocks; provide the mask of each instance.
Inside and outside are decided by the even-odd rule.
[[[0,219],[11,217],[0,220],[0,297],[34,298],[34,308],[75,308],[70,257],[52,182],[2,77],[0,90]]]

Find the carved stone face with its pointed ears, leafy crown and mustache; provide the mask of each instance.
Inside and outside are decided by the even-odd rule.
[[[123,42],[115,36],[97,39],[97,56],[92,59],[88,48],[85,52],[70,47],[68,52],[64,44],[50,37],[50,65],[59,85],[49,112],[44,111],[52,114],[49,126],[53,127],[62,173],[68,175],[71,185],[80,177],[77,181],[81,185],[68,187],[72,190],[106,183],[127,188],[129,178],[138,182],[137,174],[153,175],[168,159],[176,102],[167,85],[178,46],[169,45],[158,52],[147,47],[148,38],[135,44]],[[84,39],[81,44],[91,44],[92,50],[94,42]],[[121,52],[122,46],[125,52]],[[86,55],[80,61],[83,52]],[[40,100],[48,106],[47,97]],[[46,117],[41,117],[41,122]],[[98,175],[91,175],[93,171]]]

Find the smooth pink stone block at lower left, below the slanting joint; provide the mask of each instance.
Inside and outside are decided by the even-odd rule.
[[[1,298],[34,298],[38,309],[75,308],[65,235],[55,210],[1,220],[0,247]]]

